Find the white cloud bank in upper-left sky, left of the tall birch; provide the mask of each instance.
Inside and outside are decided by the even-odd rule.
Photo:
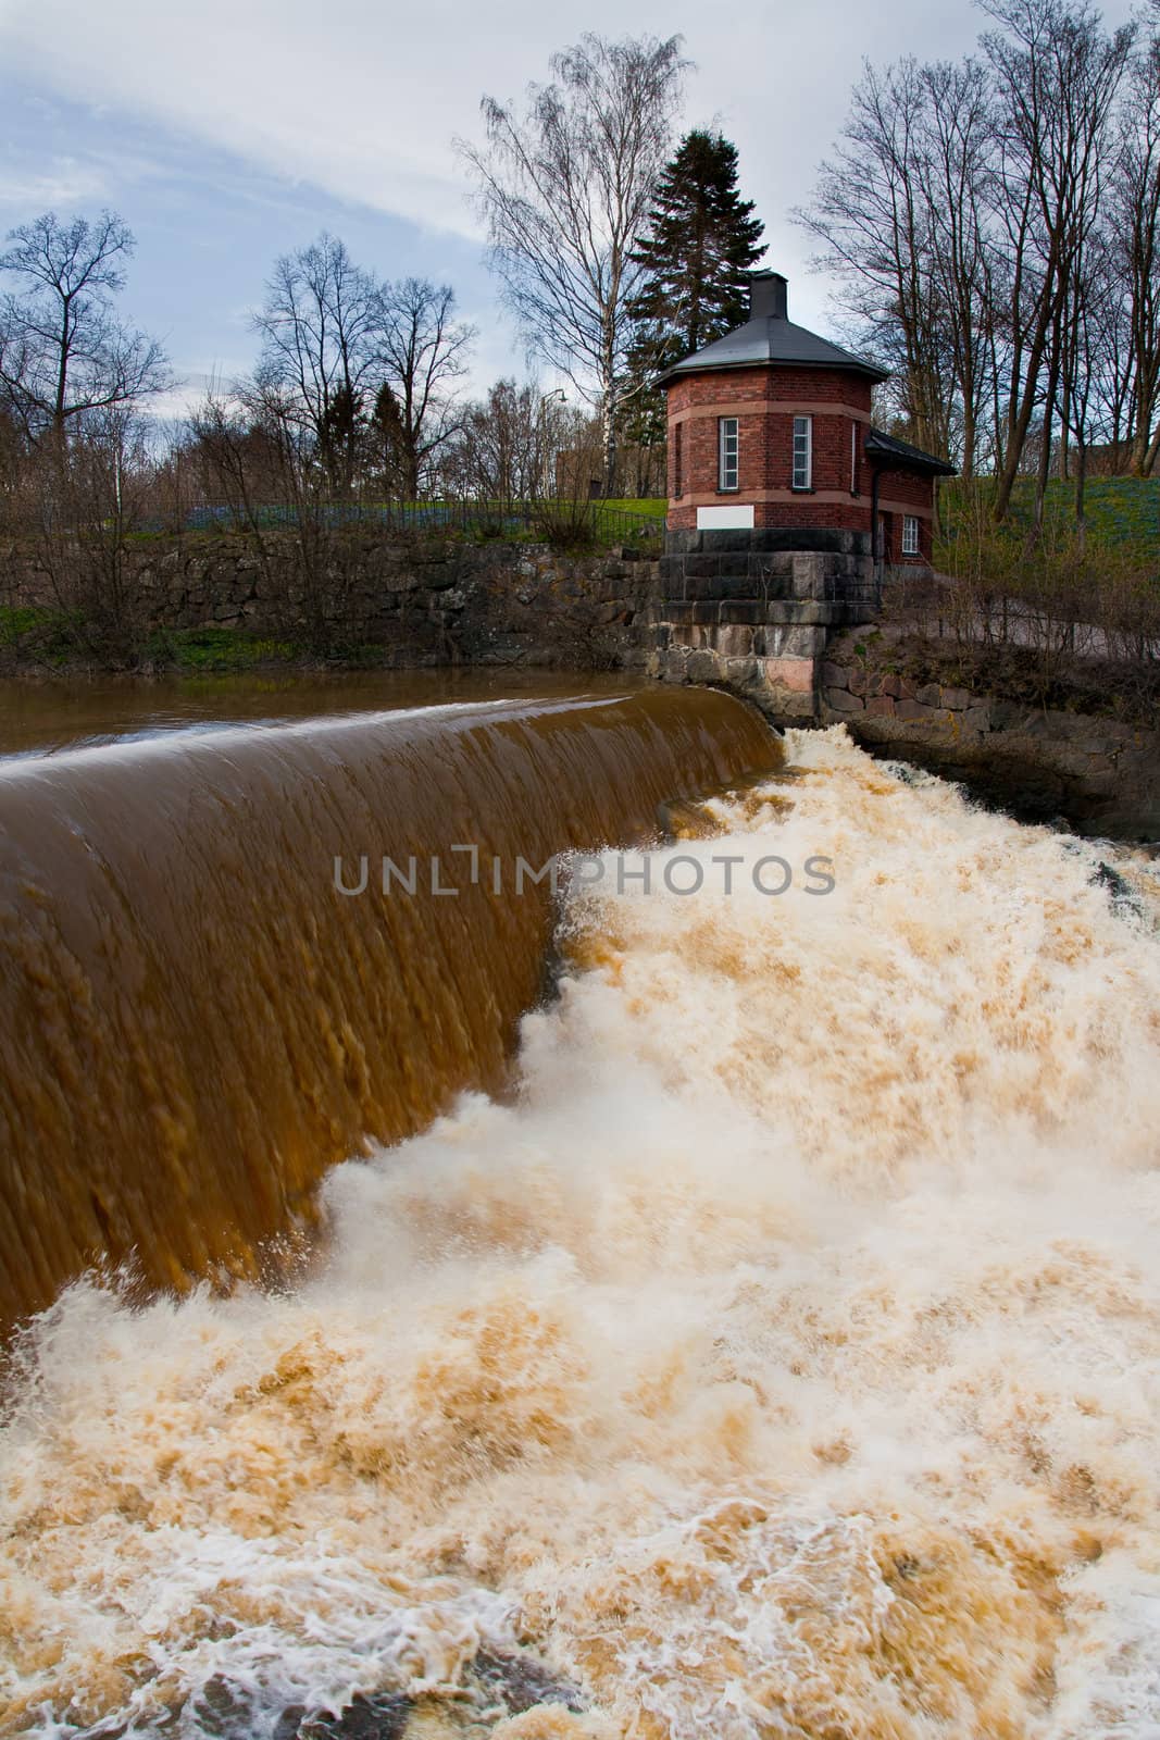
[[[322,21],[322,23],[320,23]],[[450,146],[471,124],[478,73],[440,77],[426,40],[367,0],[10,0],[12,71],[163,122],[341,198],[470,233]],[[433,77],[435,68],[435,77]]]

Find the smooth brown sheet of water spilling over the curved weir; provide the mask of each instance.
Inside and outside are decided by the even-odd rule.
[[[777,753],[741,703],[661,691],[10,764],[0,1317],[99,1256],[151,1286],[245,1270],[365,1138],[494,1091],[550,938],[518,860],[654,833],[663,799]],[[336,856],[350,887],[367,856],[365,894]],[[383,856],[416,860],[390,898]]]

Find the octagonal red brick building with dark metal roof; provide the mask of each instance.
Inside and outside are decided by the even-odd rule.
[[[781,273],[753,273],[750,294],[744,325],[661,379],[670,534],[779,532],[751,543],[784,550],[802,532],[805,550],[929,564],[934,478],[955,468],[873,428],[870,390],[885,371],[795,325]]]

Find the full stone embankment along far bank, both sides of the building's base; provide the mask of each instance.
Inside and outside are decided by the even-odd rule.
[[[50,663],[33,628],[0,646],[0,677],[623,670],[725,689],[781,729],[843,724],[1024,820],[1160,837],[1160,733],[1139,710],[1117,715],[1092,686],[1031,694],[986,651],[963,677],[953,642],[883,618],[857,532],[666,532],[661,557],[370,531],[346,545],[322,590],[290,534],[129,548],[122,644]],[[33,552],[0,550],[0,607],[59,604]]]

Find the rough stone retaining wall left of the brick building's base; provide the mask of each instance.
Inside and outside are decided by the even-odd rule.
[[[310,550],[294,534],[129,548],[117,572],[137,642],[155,630],[235,628],[294,644],[370,647],[383,663],[640,666],[657,564],[565,557],[546,545],[358,534]],[[0,550],[0,604],[101,621],[97,552]]]

